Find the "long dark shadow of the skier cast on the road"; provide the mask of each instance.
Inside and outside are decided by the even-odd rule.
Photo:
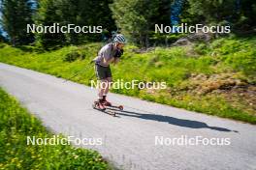
[[[118,115],[121,116],[128,116],[128,117],[135,117],[135,118],[140,118],[144,120],[152,120],[152,121],[158,121],[158,122],[163,122],[163,123],[169,123],[175,126],[179,127],[185,127],[185,128],[209,128],[209,129],[214,129],[218,131],[234,131],[238,132],[235,130],[231,130],[228,128],[218,128],[218,127],[209,127],[206,123],[204,122],[199,122],[199,121],[190,121],[186,119],[178,119],[170,116],[163,116],[163,115],[157,115],[157,114],[147,114],[147,113],[138,113],[138,112],[133,112],[133,111],[125,111],[125,110],[117,110],[112,108]]]

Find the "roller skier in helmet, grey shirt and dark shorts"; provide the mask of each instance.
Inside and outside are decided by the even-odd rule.
[[[111,102],[106,100],[112,86],[112,70],[110,64],[117,64],[120,61],[125,43],[126,40],[123,35],[119,33],[114,34],[112,42],[104,45],[93,59],[95,63],[94,71],[98,80],[100,80],[100,85],[98,92],[99,101],[95,101],[92,106],[95,109],[111,113],[113,116],[115,116],[115,111],[123,110],[123,106],[112,105]]]

